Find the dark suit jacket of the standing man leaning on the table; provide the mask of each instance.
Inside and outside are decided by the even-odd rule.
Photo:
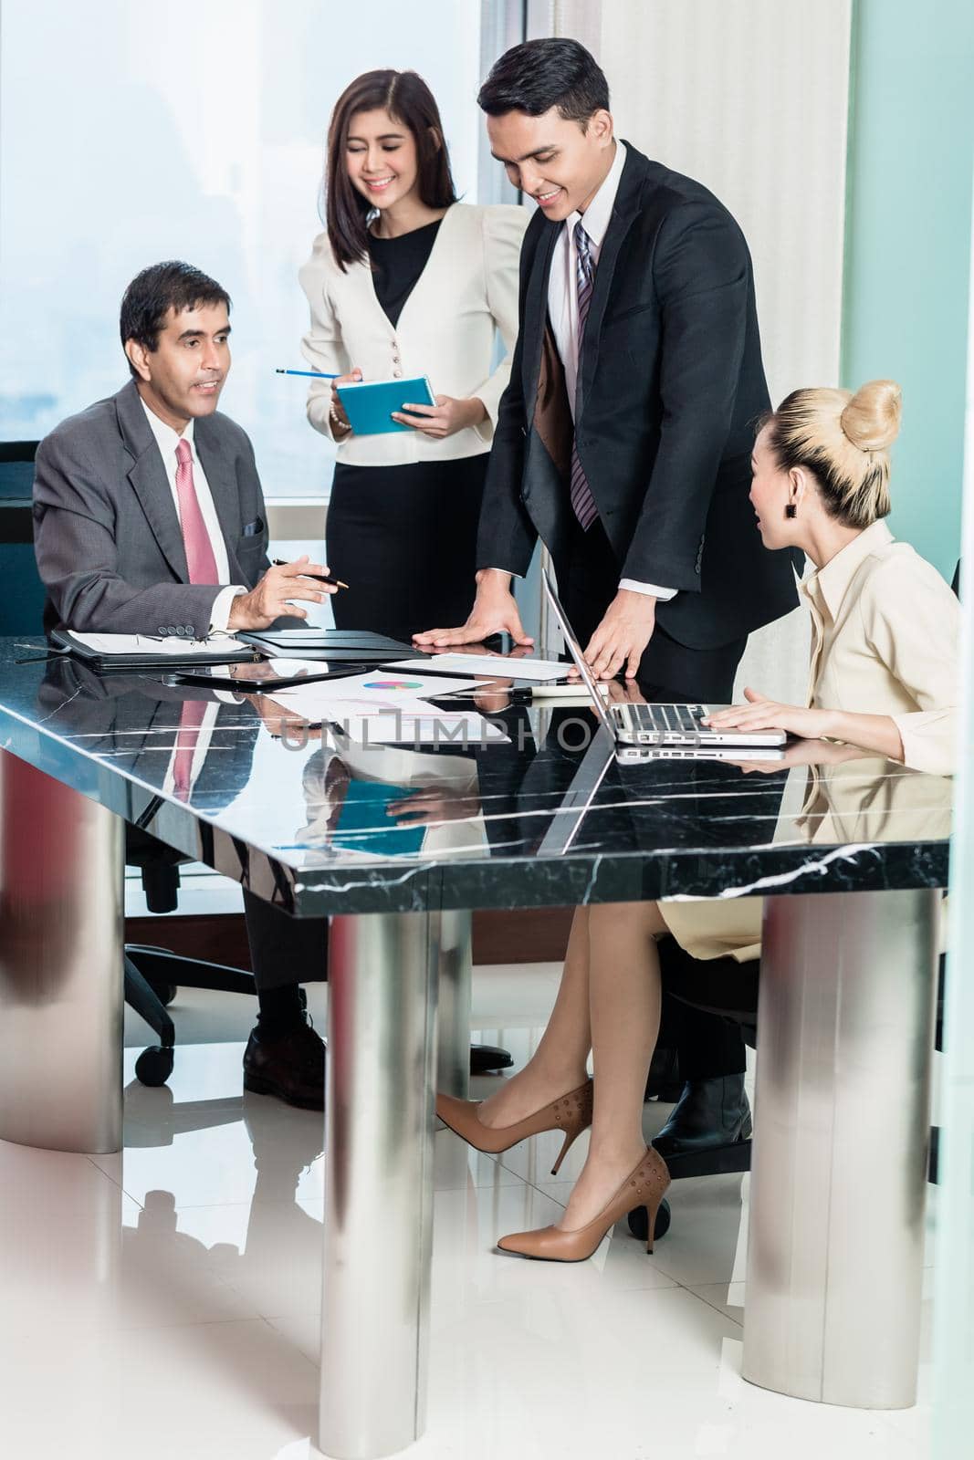
[[[755,422],[770,404],[751,256],[705,187],[626,149],[583,340],[578,456],[619,577],[678,588],[657,606],[660,625],[711,648],[797,603],[790,556],[761,546],[748,501]],[[540,536],[558,569],[574,530],[572,425],[546,324],[561,228],[539,209],[524,235],[480,568],[524,574]]]

